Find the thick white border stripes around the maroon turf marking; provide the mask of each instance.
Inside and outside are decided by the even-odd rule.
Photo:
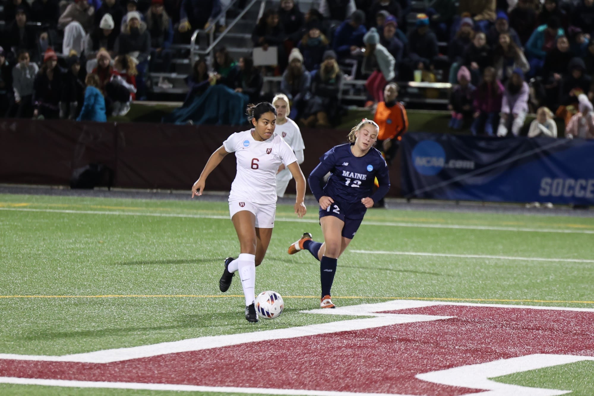
[[[565,310],[594,312],[594,309],[565,308],[565,307],[539,307],[539,306],[510,306],[503,304],[467,304],[434,301],[394,300],[377,304],[360,304],[356,306],[339,307],[337,309],[315,309],[302,311],[302,313],[321,315],[349,315],[371,316],[364,319],[338,320],[320,325],[300,326],[287,329],[250,332],[244,334],[221,335],[213,337],[192,338],[189,340],[162,342],[153,345],[142,345],[131,348],[116,348],[90,353],[71,354],[66,356],[27,356],[17,354],[0,354],[0,359],[36,360],[52,362],[86,362],[86,363],[111,363],[122,360],[137,359],[141,357],[160,356],[164,354],[180,353],[187,351],[206,350],[210,348],[226,347],[229,345],[245,344],[248,342],[282,340],[304,337],[317,334],[330,334],[335,332],[356,331],[383,326],[397,325],[400,323],[428,322],[433,320],[450,319],[451,316],[431,315],[405,315],[397,313],[381,313],[402,309],[420,308],[435,305],[456,305],[476,307],[502,307],[506,309],[533,309],[533,310]],[[378,313],[380,312],[380,313]],[[473,393],[478,396],[554,396],[563,395],[568,391],[559,389],[526,388],[518,385],[501,384],[489,378],[508,375],[527,370],[541,369],[594,360],[590,356],[570,356],[564,354],[532,354],[528,356],[501,359],[481,364],[453,367],[451,369],[435,372],[420,373],[416,378],[422,381],[434,382],[450,386],[484,389],[484,392]],[[145,384],[128,382],[94,382],[94,381],[66,381],[58,379],[0,377],[0,384],[29,384],[50,386],[76,386],[84,388],[120,388],[144,390],[169,390],[169,391],[202,391],[202,392],[234,392],[245,394],[271,394],[271,395],[301,395],[301,396],[380,396],[380,394],[364,394],[355,392],[312,391],[303,389],[274,389],[274,388],[231,388],[219,386],[194,386],[179,384]],[[382,395],[384,396],[384,395]],[[394,395],[391,396],[405,396]]]

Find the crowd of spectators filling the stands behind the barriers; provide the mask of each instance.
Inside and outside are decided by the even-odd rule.
[[[77,118],[94,90],[108,115],[125,114],[132,99],[146,97],[147,71],[170,71],[172,43],[189,43],[195,29],[213,24],[223,29],[225,4],[4,0],[0,114]],[[384,102],[393,81],[441,80],[453,84],[451,128],[517,135],[530,111],[539,111],[541,125],[550,114],[566,125],[584,122],[576,115],[592,118],[582,110],[594,99],[593,32],[594,0],[436,0],[416,14],[409,0],[321,0],[305,12],[295,0],[274,0],[251,39],[255,49],[273,49],[276,61],[233,59],[218,48],[213,62],[193,65],[186,102],[211,86],[249,102],[269,99],[261,96],[263,76],[282,76],[290,117],[325,126],[336,123],[344,78],[366,80],[369,108]]]

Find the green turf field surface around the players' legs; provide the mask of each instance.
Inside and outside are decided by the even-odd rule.
[[[320,302],[319,263],[286,254],[304,231],[321,237],[317,209],[308,210],[298,221],[292,207],[277,209],[256,291],[278,291],[286,309],[254,326],[238,278],[227,294],[218,290],[222,260],[238,254],[225,202],[0,195],[0,353],[73,354],[337,320],[299,313]],[[594,218],[371,209],[339,259],[333,300],[594,308],[592,241]],[[567,366],[498,381],[592,394],[592,362]],[[0,384],[0,394],[173,392]]]

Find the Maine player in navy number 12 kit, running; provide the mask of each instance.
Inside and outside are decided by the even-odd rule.
[[[366,118],[349,133],[349,142],[328,150],[309,175],[309,188],[320,203],[320,225],[324,243],[312,240],[305,232],[289,246],[289,254],[307,249],[320,260],[322,308],[334,308],[330,289],[340,254],[355,237],[365,212],[382,199],[390,188],[388,167],[381,153],[373,147],[379,127]],[[330,178],[323,186],[324,176]],[[372,193],[374,179],[380,187]]]

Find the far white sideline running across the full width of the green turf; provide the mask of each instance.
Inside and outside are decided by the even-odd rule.
[[[32,208],[0,208],[15,212],[44,212],[44,213],[74,213],[81,215],[114,215],[114,216],[151,216],[166,218],[189,219],[229,219],[221,215],[191,215],[182,213],[150,213],[150,212],[113,212],[102,210],[69,210],[69,209],[32,209]],[[275,221],[315,223],[317,219],[276,218]],[[495,225],[462,225],[462,224],[421,224],[405,222],[364,221],[362,225],[380,225],[384,227],[415,227],[415,228],[443,228],[448,230],[484,230],[484,231],[514,231],[514,232],[555,232],[559,234],[594,234],[594,230],[571,230],[568,228],[526,228],[526,227],[499,227]]]

